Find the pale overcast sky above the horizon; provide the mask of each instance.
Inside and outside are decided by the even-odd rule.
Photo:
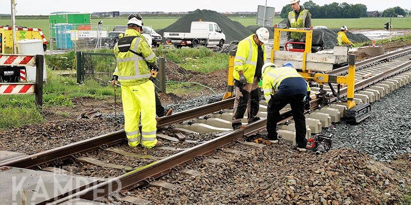
[[[47,15],[55,11],[76,11],[92,13],[96,11],[193,11],[196,9],[209,9],[218,12],[226,11],[256,11],[257,5],[264,5],[265,0],[15,0],[17,3],[17,15]],[[267,6],[275,7],[281,11],[289,0],[268,0]],[[302,1],[304,3],[305,1]],[[348,4],[365,4],[368,11],[384,10],[390,7],[400,6],[411,9],[410,0],[313,0],[318,5],[332,2]],[[10,13],[10,0],[0,0],[0,13]]]

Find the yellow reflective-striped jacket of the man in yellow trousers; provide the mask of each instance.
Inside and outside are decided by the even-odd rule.
[[[139,55],[127,51],[120,52],[119,45],[116,44],[114,54],[117,58],[117,67],[113,75],[119,76],[119,82],[122,86],[136,86],[145,83],[150,79],[150,71],[148,65],[157,65],[157,58],[151,47],[148,46],[144,36],[134,29],[127,29],[124,37],[137,36],[128,45],[120,45],[128,47]]]

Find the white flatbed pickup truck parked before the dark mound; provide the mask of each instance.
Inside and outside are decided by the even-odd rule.
[[[167,38],[167,44],[177,48],[182,46],[196,48],[197,45],[222,47],[226,35],[214,22],[192,22],[190,33],[164,32],[164,38]]]

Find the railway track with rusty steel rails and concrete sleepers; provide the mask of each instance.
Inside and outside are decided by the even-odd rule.
[[[407,48],[357,63],[357,83],[355,86],[357,92],[354,96],[356,103],[372,103],[388,92],[410,83],[411,72],[406,72],[411,68],[410,57],[411,48]],[[345,74],[346,70],[347,68],[336,69],[331,74]],[[337,85],[332,86],[335,90],[338,89]],[[312,90],[319,91],[320,89],[312,88]],[[330,92],[329,89],[325,90]],[[345,94],[346,88],[340,87],[340,96],[343,97]],[[337,100],[336,97],[331,97],[330,99],[330,101],[335,100]],[[313,99],[311,101],[311,108],[313,110],[319,108],[320,101],[320,99]],[[229,108],[232,107],[233,102],[234,99],[232,98],[226,99],[207,106],[159,118],[158,127],[166,130],[165,133],[168,132],[169,135],[177,135],[181,138],[184,137],[182,135],[186,137],[185,140],[179,140],[178,137],[171,137],[169,135],[159,136],[167,142],[168,148],[156,149],[154,152],[151,150],[147,152],[144,149],[127,149],[127,146],[123,143],[125,141],[125,133],[124,130],[121,130],[42,153],[14,158],[0,164],[0,167],[3,167],[0,169],[2,169],[2,172],[10,172],[13,169],[30,169],[33,174],[38,172],[35,170],[45,169],[50,165],[59,166],[66,161],[76,161],[79,165],[82,163],[94,164],[94,166],[97,166],[97,169],[98,167],[106,166],[108,169],[126,171],[125,173],[119,172],[120,175],[116,175],[113,178],[104,180],[100,178],[91,179],[81,184],[81,186],[75,187],[77,190],[69,190],[69,194],[54,194],[52,196],[55,198],[44,198],[40,201],[35,201],[35,204],[46,204],[46,202],[50,202],[50,204],[64,204],[74,198],[95,200],[113,192],[147,185],[153,182],[153,179],[172,172],[176,167],[189,163],[198,156],[212,154],[218,148],[229,145],[233,141],[238,141],[244,136],[251,136],[265,130],[267,107],[261,101],[259,116],[262,119],[250,125],[245,124],[244,129],[232,131],[230,129],[232,114]],[[332,105],[317,110],[312,114],[307,114],[307,119],[311,120],[307,122],[309,133],[319,133],[322,127],[328,127],[331,125],[331,122],[341,120],[344,117],[345,111],[343,105]],[[284,120],[290,119],[290,109],[286,107],[282,111],[282,116]],[[292,127],[283,126],[280,128],[282,130],[279,130],[279,134],[284,135],[283,137],[291,143],[293,142]],[[213,134],[199,135],[198,133]],[[247,142],[242,143],[246,146],[259,146],[250,145]],[[100,156],[98,156],[99,153]],[[101,153],[105,154],[102,155]],[[108,153],[115,153],[121,156],[116,158],[118,161],[117,167],[109,168],[113,166],[113,163],[101,163],[104,162],[104,158],[107,157]],[[96,159],[98,157],[100,157],[100,160]],[[129,167],[127,163],[122,165],[122,157],[133,158],[134,162],[139,164],[139,167]]]

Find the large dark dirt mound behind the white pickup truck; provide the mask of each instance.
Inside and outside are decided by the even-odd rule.
[[[164,32],[190,32],[191,22],[198,22],[199,19],[203,22],[217,23],[223,33],[226,34],[226,42],[231,42],[232,40],[242,40],[252,34],[245,26],[231,20],[225,15],[222,15],[216,11],[199,9],[190,14],[184,15],[174,24],[158,30],[158,33],[163,35]]]

